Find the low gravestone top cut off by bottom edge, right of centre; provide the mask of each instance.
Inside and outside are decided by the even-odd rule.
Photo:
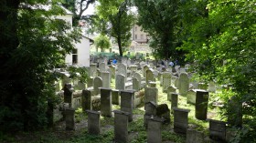
[[[205,143],[204,134],[195,129],[187,129],[186,143]]]

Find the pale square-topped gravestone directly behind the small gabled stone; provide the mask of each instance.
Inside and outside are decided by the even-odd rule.
[[[144,103],[153,101],[157,105],[158,102],[158,89],[156,87],[144,88]]]

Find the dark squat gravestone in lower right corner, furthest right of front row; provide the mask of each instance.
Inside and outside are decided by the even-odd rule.
[[[209,120],[209,138],[221,142],[226,141],[226,122],[208,119]]]

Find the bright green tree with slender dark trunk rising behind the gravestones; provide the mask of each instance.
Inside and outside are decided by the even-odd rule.
[[[119,54],[123,56],[125,47],[131,45],[130,30],[133,27],[134,15],[129,11],[130,0],[100,0],[97,6],[98,24],[101,33],[108,34],[118,44]],[[110,27],[108,29],[107,27]]]

